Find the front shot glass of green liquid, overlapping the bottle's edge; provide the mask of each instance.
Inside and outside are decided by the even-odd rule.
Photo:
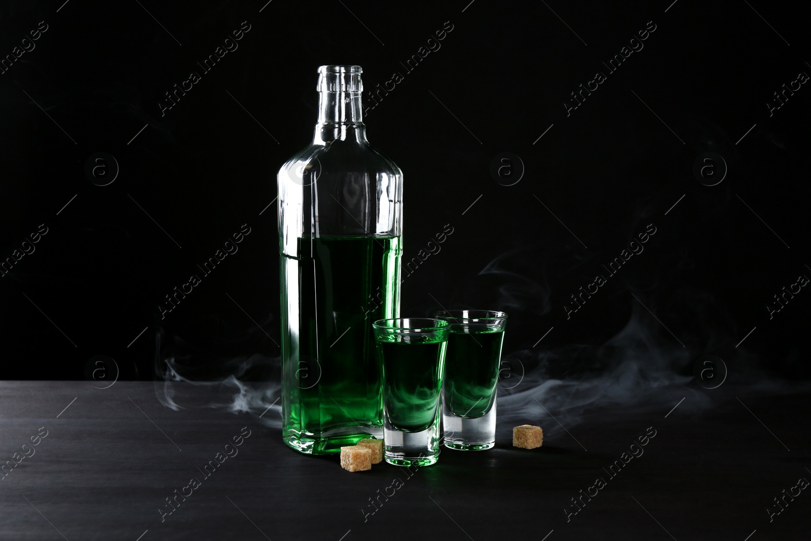
[[[428,466],[440,455],[440,396],[450,325],[431,318],[373,324],[383,374],[386,462]]]

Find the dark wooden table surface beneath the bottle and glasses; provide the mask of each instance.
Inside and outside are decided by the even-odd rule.
[[[188,386],[175,411],[159,384],[94,384],[0,383],[0,461],[19,460],[0,475],[0,539],[809,539],[807,390],[669,389],[684,403],[592,409],[565,428],[526,419],[540,449],[513,449],[505,422],[495,449],[350,474],[285,447],[263,424],[276,406],[234,414]]]

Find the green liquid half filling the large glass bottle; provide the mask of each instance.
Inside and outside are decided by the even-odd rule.
[[[400,313],[401,240],[299,238],[281,254],[282,437],[303,453],[340,453],[382,437],[371,324]]]

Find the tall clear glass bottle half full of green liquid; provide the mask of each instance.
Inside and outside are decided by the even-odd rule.
[[[279,170],[282,437],[340,453],[383,437],[372,323],[400,316],[402,172],[372,148],[359,66],[318,69],[310,146]]]

